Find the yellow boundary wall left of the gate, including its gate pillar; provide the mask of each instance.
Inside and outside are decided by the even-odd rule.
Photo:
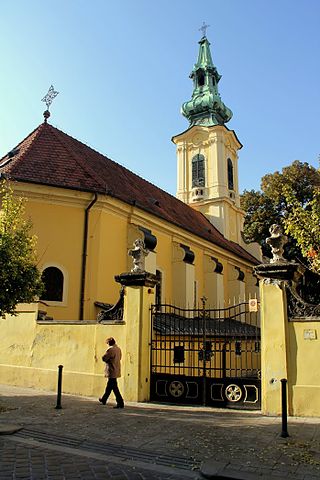
[[[63,365],[64,393],[99,397],[104,391],[105,339],[122,349],[120,390],[128,401],[149,399],[150,304],[153,291],[129,287],[124,321],[37,322],[38,305],[19,305],[16,316],[0,319],[1,383],[56,391],[58,365]],[[128,301],[129,300],[129,301]]]

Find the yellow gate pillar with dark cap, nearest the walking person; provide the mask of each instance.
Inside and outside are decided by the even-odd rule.
[[[122,359],[125,398],[145,402],[150,398],[150,307],[157,279],[152,273],[142,272],[122,273],[115,280],[125,287],[126,342]]]

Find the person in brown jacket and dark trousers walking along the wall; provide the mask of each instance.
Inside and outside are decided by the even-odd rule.
[[[121,349],[113,337],[107,338],[106,343],[109,345],[109,348],[103,355],[102,360],[106,363],[105,377],[108,379],[108,382],[106,391],[99,398],[99,402],[105,405],[110,393],[113,392],[117,401],[117,405],[113,408],[124,408],[124,401],[117,382],[117,378],[121,377]]]

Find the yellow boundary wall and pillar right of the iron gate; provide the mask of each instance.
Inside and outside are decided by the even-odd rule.
[[[281,414],[281,379],[288,380],[288,413],[320,416],[320,322],[289,321],[284,282],[260,282],[262,413]]]

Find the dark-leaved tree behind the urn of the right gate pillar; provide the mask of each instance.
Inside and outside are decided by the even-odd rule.
[[[305,209],[320,186],[320,172],[308,163],[295,160],[291,165],[262,177],[261,191],[244,191],[241,207],[246,212],[244,236],[248,242],[258,242],[264,255],[270,256],[265,240],[270,236],[269,228],[278,223],[284,229],[286,219],[294,208]],[[295,199],[295,202],[292,202]],[[302,259],[304,253],[295,236],[289,237],[285,248],[287,258]]]

